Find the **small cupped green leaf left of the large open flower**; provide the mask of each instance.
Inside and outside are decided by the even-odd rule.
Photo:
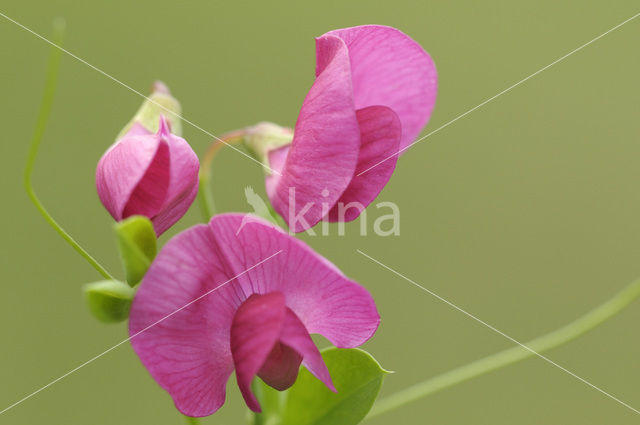
[[[119,280],[103,280],[84,285],[91,313],[101,322],[117,323],[129,317],[135,289]]]

